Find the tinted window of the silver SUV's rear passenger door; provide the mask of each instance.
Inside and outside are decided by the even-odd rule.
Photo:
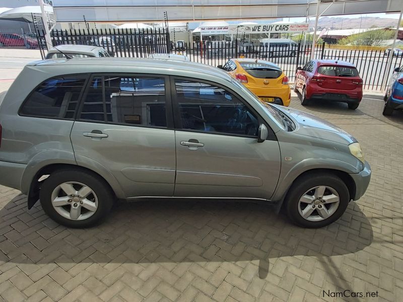
[[[166,127],[165,80],[126,75],[94,77],[81,119]]]

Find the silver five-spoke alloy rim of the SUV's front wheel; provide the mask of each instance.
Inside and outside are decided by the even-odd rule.
[[[324,220],[337,211],[340,197],[328,186],[317,186],[306,191],[298,201],[298,212],[309,221]]]

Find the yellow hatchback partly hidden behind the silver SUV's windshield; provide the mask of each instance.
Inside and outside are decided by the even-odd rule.
[[[266,103],[290,105],[291,90],[288,77],[274,63],[257,59],[230,59],[224,69]]]

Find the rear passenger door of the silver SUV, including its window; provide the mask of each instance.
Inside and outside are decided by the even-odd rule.
[[[93,75],[71,139],[78,164],[110,171],[125,197],[172,196],[175,132],[168,77]],[[86,160],[88,159],[88,160]]]

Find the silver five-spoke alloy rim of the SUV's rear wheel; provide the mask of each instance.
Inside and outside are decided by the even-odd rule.
[[[98,209],[98,197],[85,184],[65,182],[58,185],[52,192],[53,208],[64,218],[71,220],[88,219]]]

